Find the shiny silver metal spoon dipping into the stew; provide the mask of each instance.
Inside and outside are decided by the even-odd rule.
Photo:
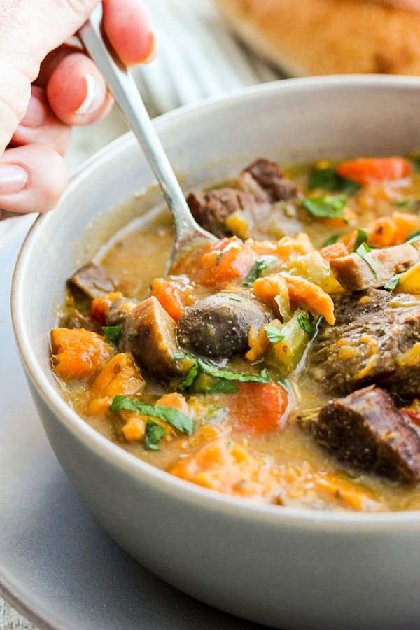
[[[89,20],[77,34],[87,54],[102,72],[127,125],[137,137],[172,212],[175,240],[167,266],[167,271],[169,271],[181,252],[191,246],[193,241],[214,242],[217,239],[200,228],[190,213],[181,186],[151,123],[134,79],[130,71],[118,59],[104,33],[102,3],[94,9]]]

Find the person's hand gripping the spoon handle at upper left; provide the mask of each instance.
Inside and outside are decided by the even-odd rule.
[[[71,125],[102,120],[112,106],[104,78],[80,48],[63,42],[98,0],[0,0],[0,208],[44,212],[67,183],[62,155]],[[151,13],[141,0],[103,0],[104,27],[127,65],[155,55]]]

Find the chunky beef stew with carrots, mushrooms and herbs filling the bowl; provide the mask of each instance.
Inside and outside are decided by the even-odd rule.
[[[52,371],[135,456],[276,505],[420,509],[420,160],[259,159],[68,281]]]

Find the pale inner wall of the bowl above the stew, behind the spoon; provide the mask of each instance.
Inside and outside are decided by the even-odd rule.
[[[417,79],[290,80],[183,108],[156,120],[156,129],[188,190],[237,174],[258,157],[290,163],[418,150],[419,102]],[[66,278],[155,202],[162,198],[151,170],[127,134],[90,160],[59,207],[32,228],[15,275],[13,318],[22,359],[44,400],[57,398],[49,330]]]

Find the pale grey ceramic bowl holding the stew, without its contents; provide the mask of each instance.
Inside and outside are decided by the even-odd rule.
[[[181,109],[155,125],[186,190],[259,156],[404,155],[420,148],[420,80],[282,81]],[[73,178],[59,207],[36,221],[18,260],[15,334],[69,479],[127,552],[222,610],[284,630],[418,629],[420,512],[316,512],[223,496],[111,444],[62,400],[48,331],[65,280],[133,214],[110,210],[150,183],[128,134]]]

